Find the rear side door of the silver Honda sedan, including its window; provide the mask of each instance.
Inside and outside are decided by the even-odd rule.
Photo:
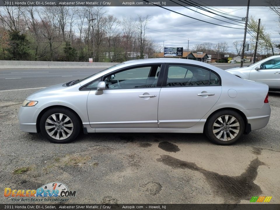
[[[209,69],[187,64],[165,67],[158,104],[159,128],[190,128],[218,101],[220,77]]]

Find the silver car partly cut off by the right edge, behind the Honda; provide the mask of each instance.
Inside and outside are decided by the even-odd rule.
[[[225,71],[242,79],[265,83],[271,91],[280,91],[280,55],[265,58],[248,67]]]

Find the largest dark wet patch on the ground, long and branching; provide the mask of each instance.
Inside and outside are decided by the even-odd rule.
[[[179,160],[170,155],[161,155],[157,161],[172,168],[189,169],[203,174],[209,185],[219,196],[223,197],[225,202],[239,203],[241,200],[249,200],[254,195],[262,194],[260,187],[254,183],[258,175],[258,167],[264,165],[258,158],[252,160],[240,176],[220,175],[198,167],[193,162]]]

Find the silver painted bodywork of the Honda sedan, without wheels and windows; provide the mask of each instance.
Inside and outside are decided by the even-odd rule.
[[[222,85],[106,89],[102,94],[96,94],[97,90],[79,90],[112,71],[153,63],[192,64],[211,69],[220,75]],[[203,91],[214,95],[197,95]],[[41,111],[50,106],[65,106],[79,115],[88,133],[202,133],[207,118],[213,112],[233,108],[244,113],[253,130],[265,127],[268,122],[270,107],[264,104],[267,92],[265,84],[243,80],[203,62],[172,58],[135,60],[101,71],[69,87],[60,84],[39,90],[27,97],[27,100],[38,101],[38,104],[21,107],[18,118],[23,131],[38,132],[36,121]],[[139,97],[144,93],[156,96],[148,99]]]

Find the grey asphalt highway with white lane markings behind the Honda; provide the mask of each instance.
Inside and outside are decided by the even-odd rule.
[[[240,64],[217,64],[216,66],[221,69],[230,69],[239,67]],[[0,91],[48,87],[82,79],[101,70],[103,69],[3,69],[0,70]]]

